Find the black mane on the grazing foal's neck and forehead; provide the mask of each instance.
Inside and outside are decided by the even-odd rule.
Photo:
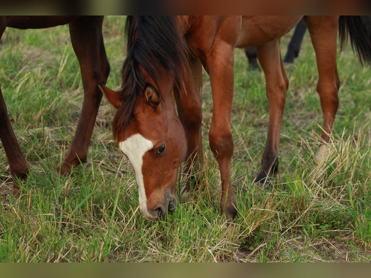
[[[146,81],[139,65],[156,85],[164,74],[180,86],[188,66],[188,48],[173,16],[128,16],[125,23],[127,57],[122,70],[120,99],[123,105],[113,119],[113,135],[117,136],[133,119],[135,102]],[[157,86],[158,87],[158,86]],[[162,99],[161,92],[160,99]]]

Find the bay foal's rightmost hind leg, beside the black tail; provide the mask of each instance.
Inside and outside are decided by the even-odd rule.
[[[338,110],[340,79],[336,66],[338,16],[307,16],[305,18],[316,53],[318,68],[317,92],[324,115],[322,139],[328,142]]]

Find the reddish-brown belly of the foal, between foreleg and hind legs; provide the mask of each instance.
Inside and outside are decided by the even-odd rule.
[[[252,15],[242,17],[236,47],[259,46],[288,33],[303,16]]]

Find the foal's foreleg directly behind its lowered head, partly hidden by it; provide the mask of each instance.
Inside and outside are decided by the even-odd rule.
[[[185,199],[191,187],[198,184],[203,163],[202,153],[202,107],[201,107],[201,90],[202,90],[202,64],[197,57],[190,58],[189,65],[191,75],[186,82],[186,88],[182,86],[180,94],[175,93],[178,108],[178,116],[181,120],[187,139],[186,167],[183,171],[191,180],[181,192],[181,198]]]

